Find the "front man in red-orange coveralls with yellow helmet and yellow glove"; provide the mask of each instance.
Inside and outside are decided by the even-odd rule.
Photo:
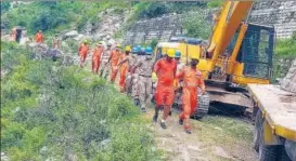
[[[153,121],[157,122],[158,111],[162,106],[164,106],[164,116],[160,121],[160,126],[167,129],[166,119],[170,112],[171,105],[175,97],[173,80],[177,70],[177,63],[173,61],[175,50],[168,49],[167,55],[158,59],[154,66],[154,72],[158,78],[155,98],[156,107]]]

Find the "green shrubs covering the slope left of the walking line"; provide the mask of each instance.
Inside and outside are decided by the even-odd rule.
[[[1,42],[1,151],[10,160],[158,160],[139,108],[77,66]]]

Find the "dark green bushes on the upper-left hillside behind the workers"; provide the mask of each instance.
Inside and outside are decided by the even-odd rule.
[[[1,14],[1,19],[9,28],[24,26],[30,33],[39,29],[50,33],[69,28],[80,30],[87,23],[99,19],[99,12],[111,6],[124,9],[125,5],[126,3],[108,1],[31,2],[7,11]]]

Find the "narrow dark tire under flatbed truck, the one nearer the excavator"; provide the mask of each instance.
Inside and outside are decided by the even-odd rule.
[[[262,112],[260,109],[258,109],[255,118],[255,128],[254,128],[254,138],[253,138],[253,145],[254,149],[258,152],[259,151],[259,146],[260,146],[260,140],[262,139],[262,133],[263,133],[263,118],[262,118]]]

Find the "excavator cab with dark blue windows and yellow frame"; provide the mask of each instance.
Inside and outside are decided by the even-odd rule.
[[[270,82],[272,76],[272,55],[274,48],[274,27],[257,24],[245,24],[246,31],[239,41],[241,28],[234,33],[226,53],[221,57],[234,57],[232,63],[228,62],[227,81],[246,85],[247,83]],[[239,50],[234,50],[237,48]],[[221,61],[222,62],[222,61]]]

